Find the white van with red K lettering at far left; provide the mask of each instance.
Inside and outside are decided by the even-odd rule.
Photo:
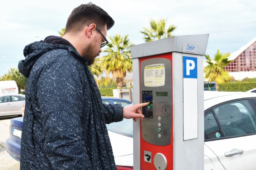
[[[18,86],[14,80],[0,81],[0,95],[18,93]]]

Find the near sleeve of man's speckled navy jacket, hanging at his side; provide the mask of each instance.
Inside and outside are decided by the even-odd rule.
[[[44,67],[38,79],[37,96],[44,118],[43,149],[54,169],[92,167],[80,119],[83,105],[81,74],[77,64],[58,60]]]

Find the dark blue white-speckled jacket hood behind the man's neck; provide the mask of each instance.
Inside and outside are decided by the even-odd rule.
[[[53,39],[53,36],[49,36],[49,37]],[[48,42],[46,43],[45,41],[47,40]],[[46,52],[54,49],[66,49],[71,53],[73,53],[73,55],[82,59],[83,61],[86,61],[85,58],[81,57],[81,55],[74,48],[72,48],[73,47],[72,45],[71,47],[69,45],[57,44],[56,40],[54,41],[55,43],[52,44],[51,41],[49,41],[48,37],[45,38],[45,41],[40,41],[40,42],[36,41],[34,43],[27,45],[24,48],[23,54],[25,56],[25,60],[19,61],[18,69],[19,69],[19,72],[22,73],[26,78],[29,77],[29,73],[34,63],[38,60],[38,58],[41,55],[45,54]],[[48,43],[51,43],[51,44],[48,44]]]

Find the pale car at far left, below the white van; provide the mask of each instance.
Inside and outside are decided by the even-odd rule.
[[[22,115],[25,106],[25,95],[0,95],[0,116]]]

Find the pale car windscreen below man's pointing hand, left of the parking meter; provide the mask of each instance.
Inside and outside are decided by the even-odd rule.
[[[128,137],[133,136],[132,126],[132,119],[125,118],[123,119],[123,121],[120,122],[106,124],[106,127],[109,131]]]

